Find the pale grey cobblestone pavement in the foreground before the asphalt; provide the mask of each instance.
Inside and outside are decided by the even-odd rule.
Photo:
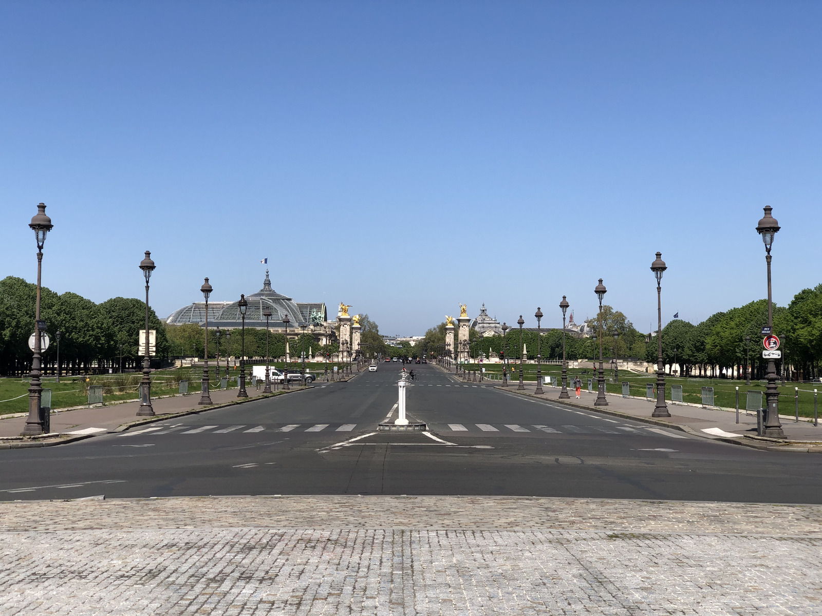
[[[822,614],[822,506],[0,503],[0,614]]]

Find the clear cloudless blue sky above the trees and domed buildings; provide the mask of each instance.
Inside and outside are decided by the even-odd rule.
[[[822,282],[820,2],[2,2],[0,276],[160,316],[261,287],[421,334],[647,331]]]

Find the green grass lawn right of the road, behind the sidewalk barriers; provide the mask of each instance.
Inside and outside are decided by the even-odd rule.
[[[607,364],[605,364],[607,365]],[[488,375],[489,373],[493,375],[499,375],[501,373],[501,364],[484,364],[483,367],[485,368],[485,374]],[[516,380],[520,378],[520,367],[517,364],[509,364],[510,369],[510,379]],[[466,365],[467,370],[478,370],[478,364],[468,364]],[[576,375],[580,375],[580,378],[583,381],[583,389],[588,388],[588,379],[596,379],[596,376],[593,375],[593,370],[590,368],[588,369],[588,374],[582,374],[582,370],[580,368],[569,368],[568,369],[568,383],[570,386],[571,381],[574,379]],[[556,376],[557,379],[561,378],[562,368],[559,365],[542,365],[542,373],[543,376],[550,375]],[[537,366],[533,364],[526,364],[523,366],[523,376],[526,380],[535,380],[537,376]],[[635,372],[628,372],[627,370],[620,370],[618,375],[618,382],[613,383],[613,370],[608,370],[607,368],[604,370],[604,376],[606,379],[605,388],[608,393],[622,393],[622,385],[623,381],[627,381],[630,384],[630,395],[632,396],[640,396],[644,397],[645,395],[645,384],[649,383],[656,383],[656,375],[655,374],[648,374],[648,375],[638,375]],[[700,404],[702,402],[702,388],[703,387],[713,387],[713,400],[714,404],[718,407],[727,407],[733,408],[736,405],[736,388],[739,388],[739,405],[741,410],[745,410],[745,403],[747,398],[747,391],[756,390],[764,392],[765,385],[764,383],[760,383],[758,381],[751,381],[750,385],[746,385],[744,380],[732,380],[732,379],[686,379],[686,378],[674,378],[669,375],[665,377],[665,399],[670,401],[671,400],[671,385],[681,385],[682,386],[682,401],[683,402],[691,402],[695,404]],[[593,387],[596,388],[596,380],[594,380]],[[780,415],[793,415],[795,411],[795,398],[794,398],[794,388],[799,388],[799,415],[803,417],[812,417],[814,416],[814,388],[822,390],[822,384],[797,384],[797,383],[786,383],[785,386],[779,387],[779,413]],[[822,391],[820,391],[822,393]],[[764,395],[763,395],[764,400]],[[820,400],[820,405],[822,405],[822,400]],[[822,408],[820,408],[820,413],[822,413]]]

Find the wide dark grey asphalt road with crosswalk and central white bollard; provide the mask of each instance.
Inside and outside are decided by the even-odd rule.
[[[822,457],[770,453],[460,384],[413,365],[409,417],[376,433],[398,366],[52,448],[0,450],[0,499],[506,494],[822,503]]]

